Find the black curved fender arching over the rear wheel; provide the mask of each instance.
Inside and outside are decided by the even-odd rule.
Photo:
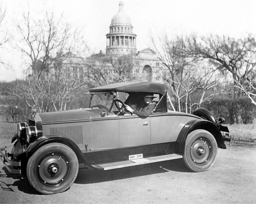
[[[191,120],[181,129],[181,132],[179,133],[178,138],[176,140],[178,144],[176,151],[178,151],[179,153],[182,153],[184,151],[185,141],[187,139],[188,134],[190,134],[190,132],[197,129],[204,129],[210,132],[216,139],[216,142],[219,148],[222,148],[222,149],[227,148],[219,128],[209,120],[199,119],[199,120]]]

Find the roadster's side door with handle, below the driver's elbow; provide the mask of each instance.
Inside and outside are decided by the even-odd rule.
[[[119,116],[120,147],[150,144],[150,117],[137,115]]]

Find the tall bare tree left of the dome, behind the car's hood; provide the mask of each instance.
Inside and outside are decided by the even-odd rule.
[[[26,79],[17,81],[9,92],[23,98],[29,107],[36,104],[39,112],[65,110],[74,91],[87,85],[78,78],[74,54],[83,45],[81,32],[65,23],[62,15],[57,18],[48,11],[39,20],[31,20],[28,12],[23,22],[18,25],[22,38],[17,45],[29,57],[30,66]]]

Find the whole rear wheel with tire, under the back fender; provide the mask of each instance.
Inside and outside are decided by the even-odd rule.
[[[204,172],[214,164],[217,143],[210,132],[198,129],[188,134],[183,153],[183,161],[193,172]]]

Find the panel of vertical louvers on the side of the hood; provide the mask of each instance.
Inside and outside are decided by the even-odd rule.
[[[53,127],[50,128],[50,134],[65,136],[76,144],[83,144],[82,125]]]

